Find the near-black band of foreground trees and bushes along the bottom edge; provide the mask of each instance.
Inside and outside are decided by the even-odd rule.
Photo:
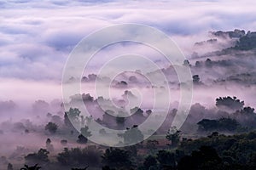
[[[179,134],[175,134],[179,136]],[[168,137],[167,137],[168,138]],[[173,147],[157,149],[157,142],[148,140],[125,148],[100,149],[97,146],[65,148],[49,160],[44,149],[25,157],[26,163],[35,166],[23,169],[255,169],[256,132],[226,136],[217,132],[201,139],[182,139]],[[9,165],[9,170],[11,166]]]

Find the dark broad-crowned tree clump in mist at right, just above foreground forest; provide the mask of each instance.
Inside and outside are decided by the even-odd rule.
[[[220,97],[216,99],[218,113],[226,115],[218,119],[202,119],[197,122],[200,132],[229,132],[241,133],[255,129],[256,113],[251,107],[243,107],[244,101],[236,97]],[[227,111],[227,112],[226,112]]]

